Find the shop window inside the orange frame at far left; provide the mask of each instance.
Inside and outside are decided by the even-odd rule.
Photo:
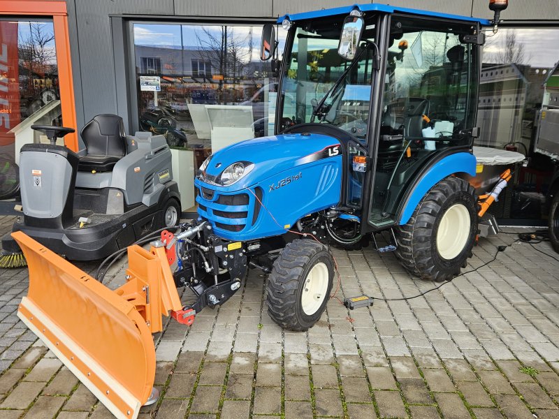
[[[48,142],[31,125],[61,125],[61,115],[52,21],[0,20],[0,199],[17,196],[22,145]]]

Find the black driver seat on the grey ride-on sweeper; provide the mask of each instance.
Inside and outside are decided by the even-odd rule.
[[[86,148],[78,163],[80,171],[110,172],[126,154],[124,122],[118,115],[97,115],[80,135]]]

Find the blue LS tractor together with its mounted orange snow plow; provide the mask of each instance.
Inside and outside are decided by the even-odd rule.
[[[491,0],[493,9],[506,3]],[[412,274],[451,279],[471,256],[478,216],[509,179],[482,200],[468,183],[482,27],[491,22],[381,4],[279,22],[288,36],[275,135],[210,156],[195,179],[198,219],[164,231],[150,251],[129,247],[124,286],[110,291],[13,233],[29,261],[18,315],[119,418],[136,417],[152,395],[161,314],[190,325],[235,294],[251,267],[270,273],[270,317],[307,330],[333,286],[326,244],[355,249],[379,232],[393,242],[377,249],[395,249]],[[274,33],[263,29],[263,59],[274,57]],[[428,50],[438,38],[444,48]],[[194,304],[181,304],[183,286]],[[363,304],[365,296],[347,301]]]

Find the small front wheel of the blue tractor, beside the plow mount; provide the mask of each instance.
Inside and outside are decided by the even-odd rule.
[[[268,314],[287,330],[312,328],[326,309],[333,278],[333,257],[324,244],[293,240],[275,260],[268,277]]]

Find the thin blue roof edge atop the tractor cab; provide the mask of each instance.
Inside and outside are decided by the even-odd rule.
[[[379,3],[354,4],[353,6],[343,6],[337,8],[324,9],[324,10],[315,10],[312,12],[295,13],[293,15],[287,14],[282,17],[279,17],[277,23],[281,23],[282,20],[284,20],[286,17],[289,17],[289,20],[291,21],[296,21],[296,20],[316,19],[317,17],[349,15],[349,12],[351,12],[351,10],[354,10],[354,8],[361,10],[362,12],[405,13],[408,15],[442,17],[444,19],[461,20],[463,22],[478,22],[483,26],[488,26],[491,24],[489,20],[479,19],[478,17],[450,15],[448,13],[430,12],[427,10],[419,10],[419,9],[398,7],[398,6],[388,6],[386,4],[379,4]]]

